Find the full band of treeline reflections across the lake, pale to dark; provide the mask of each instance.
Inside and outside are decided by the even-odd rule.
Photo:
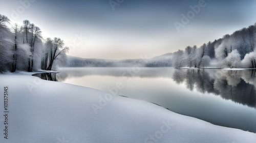
[[[167,77],[177,84],[184,83],[190,91],[212,93],[223,99],[256,108],[256,70],[220,70],[220,69],[175,69],[173,74],[159,68],[140,69],[136,74],[132,68],[70,68],[60,70],[60,73],[42,73],[34,76],[51,81],[65,81],[71,77],[90,75],[101,76],[138,76]],[[125,73],[125,74],[124,74]]]

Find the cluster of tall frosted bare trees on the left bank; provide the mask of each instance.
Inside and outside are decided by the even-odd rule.
[[[44,40],[29,20],[11,25],[0,14],[0,72],[52,70],[65,64],[68,49],[60,38]]]

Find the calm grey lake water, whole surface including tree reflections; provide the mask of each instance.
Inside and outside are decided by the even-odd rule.
[[[62,68],[43,79],[153,102],[212,124],[256,132],[256,70]],[[132,105],[131,105],[132,106]],[[157,115],[156,115],[157,116]]]

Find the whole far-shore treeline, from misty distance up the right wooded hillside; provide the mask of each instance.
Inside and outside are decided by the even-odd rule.
[[[208,42],[200,47],[187,46],[185,50],[167,53],[145,60],[104,60],[69,58],[68,67],[189,67],[189,68],[256,68],[256,23]]]

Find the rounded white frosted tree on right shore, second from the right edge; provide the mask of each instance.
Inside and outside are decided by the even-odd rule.
[[[224,60],[224,66],[228,68],[239,68],[241,66],[240,53],[237,49],[228,53],[227,58]]]

